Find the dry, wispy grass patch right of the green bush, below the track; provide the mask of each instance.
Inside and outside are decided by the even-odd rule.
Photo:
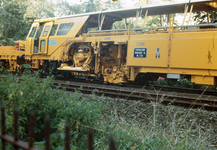
[[[215,149],[215,112],[158,102],[100,99],[105,102],[106,120],[101,129],[116,137],[119,149]]]

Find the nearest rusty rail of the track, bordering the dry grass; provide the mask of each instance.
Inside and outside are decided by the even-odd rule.
[[[98,85],[98,86],[97,86]],[[174,96],[168,94],[159,94],[148,91],[133,91],[132,89],[125,88],[113,88],[114,86],[100,86],[99,84],[79,84],[79,82],[66,82],[61,80],[55,80],[53,87],[58,86],[59,88],[65,87],[67,91],[75,91],[78,89],[84,94],[95,93],[96,95],[104,95],[112,98],[122,98],[125,100],[139,100],[143,102],[159,102],[165,105],[171,104],[186,108],[202,108],[208,111],[217,111],[217,97],[216,100],[190,98],[183,96]],[[180,90],[180,89],[179,89]],[[182,92],[184,89],[182,90]],[[193,90],[194,91],[194,90]],[[198,92],[198,91],[197,91]],[[204,94],[204,92],[200,94]]]

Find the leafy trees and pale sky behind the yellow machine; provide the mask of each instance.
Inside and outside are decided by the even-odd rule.
[[[124,2],[87,0],[71,4],[67,0],[0,0],[0,44],[8,46],[14,45],[16,40],[25,40],[35,19],[119,9],[124,6]],[[151,0],[140,0],[135,3],[135,7],[152,3]],[[158,18],[150,18],[147,25],[159,25]],[[133,20],[130,21],[133,22]],[[114,28],[124,28],[123,21],[116,23]]]

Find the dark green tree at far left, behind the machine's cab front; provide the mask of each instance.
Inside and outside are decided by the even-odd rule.
[[[13,8],[13,9],[11,9]],[[12,44],[12,39],[25,39],[30,24],[23,16],[26,5],[20,5],[19,1],[3,1],[0,6],[0,41],[1,44]]]

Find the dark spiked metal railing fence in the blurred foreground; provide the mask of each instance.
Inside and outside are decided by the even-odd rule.
[[[40,150],[39,148],[33,147],[34,143],[34,126],[35,126],[35,113],[34,111],[30,114],[29,119],[29,140],[27,142],[23,142],[19,140],[18,137],[18,116],[19,112],[17,108],[14,108],[14,136],[10,136],[6,134],[6,126],[5,126],[5,105],[1,106],[1,126],[2,131],[0,132],[0,139],[2,140],[2,150],[6,149],[6,142],[11,143],[14,147],[14,150],[18,150],[19,148],[23,150]],[[89,129],[88,131],[88,150],[93,150],[93,131]],[[115,141],[111,136],[109,139],[109,147],[110,150],[116,150]],[[45,150],[50,150],[50,118],[46,116],[45,118]],[[65,150],[70,150],[70,124],[66,122],[65,125]]]

